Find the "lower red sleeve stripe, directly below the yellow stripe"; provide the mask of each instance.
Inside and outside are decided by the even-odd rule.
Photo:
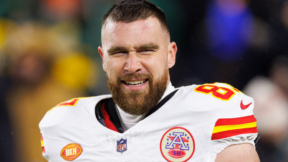
[[[219,139],[231,137],[234,135],[241,135],[241,134],[247,134],[247,133],[257,133],[257,132],[258,132],[257,127],[235,129],[235,130],[226,130],[223,132],[213,133],[211,140],[219,140]]]

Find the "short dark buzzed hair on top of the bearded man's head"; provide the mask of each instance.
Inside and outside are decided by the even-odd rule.
[[[128,23],[149,17],[156,17],[170,38],[165,13],[155,4],[145,0],[123,0],[114,4],[104,15],[101,28],[103,31],[108,21]]]

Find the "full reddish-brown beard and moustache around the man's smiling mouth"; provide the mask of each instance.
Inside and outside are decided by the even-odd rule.
[[[149,81],[149,91],[128,91],[123,87],[123,80],[132,78],[147,78]],[[108,87],[112,94],[112,99],[123,111],[132,115],[140,115],[149,112],[162,98],[168,80],[168,68],[159,80],[154,81],[152,76],[144,73],[127,74],[117,78],[117,82],[113,82],[108,76]],[[155,83],[154,83],[155,82]]]

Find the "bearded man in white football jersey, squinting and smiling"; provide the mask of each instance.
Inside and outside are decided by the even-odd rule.
[[[48,161],[259,161],[251,97],[228,84],[171,85],[177,46],[154,4],[115,4],[98,50],[112,96],[46,113],[39,126]]]

